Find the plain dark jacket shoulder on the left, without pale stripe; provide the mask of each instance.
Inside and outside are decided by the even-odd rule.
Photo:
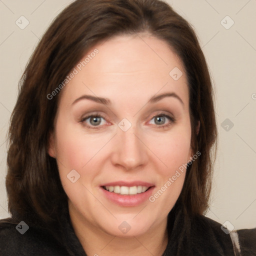
[[[11,219],[0,220],[0,255],[68,255],[46,231],[19,225]]]

